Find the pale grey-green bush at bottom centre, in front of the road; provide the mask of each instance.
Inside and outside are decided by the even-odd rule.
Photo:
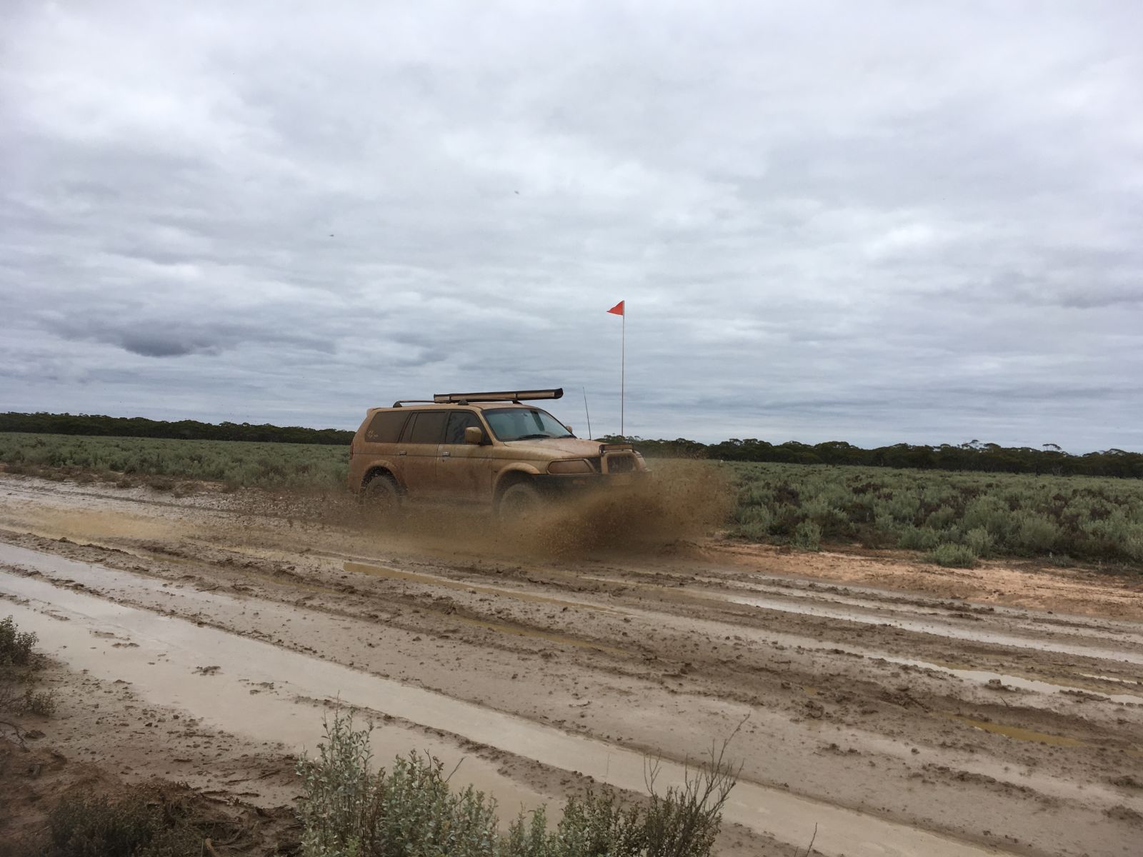
[[[706,857],[737,770],[711,764],[665,793],[658,766],[647,770],[647,808],[625,806],[609,791],[573,796],[554,830],[544,809],[523,814],[501,834],[496,802],[471,786],[454,792],[430,755],[398,756],[371,771],[369,730],[352,714],[326,722],[317,759],[297,764],[304,798],[303,857]]]

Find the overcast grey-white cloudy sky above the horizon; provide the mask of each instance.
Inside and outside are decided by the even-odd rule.
[[[0,410],[1143,449],[1143,3],[0,8]],[[584,432],[582,432],[584,433]]]

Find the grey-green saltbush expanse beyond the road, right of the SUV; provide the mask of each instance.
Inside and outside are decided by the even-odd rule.
[[[920,551],[942,566],[992,556],[1143,566],[1143,481],[884,467],[725,464],[730,535],[816,550]]]

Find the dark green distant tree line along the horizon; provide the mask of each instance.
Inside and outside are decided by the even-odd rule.
[[[86,434],[117,438],[170,438],[176,440],[245,440],[266,443],[349,444],[353,432],[343,428],[305,428],[250,423],[167,422],[145,417],[109,417],[94,414],[0,414],[0,432]],[[696,440],[650,440],[608,436],[629,441],[649,457],[713,458],[726,462],[778,462],[783,464],[856,464],[866,467],[917,467],[920,470],[981,471],[1143,478],[1143,454],[1106,449],[1085,455],[1065,452],[1055,443],[1042,447],[1001,447],[972,440],[967,443],[921,446],[894,443],[864,449],[836,440],[825,443],[770,443],[757,438],[732,438],[719,443]]]

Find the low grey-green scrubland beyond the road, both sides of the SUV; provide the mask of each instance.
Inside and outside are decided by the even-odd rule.
[[[230,488],[337,491],[347,448],[313,443],[0,434],[10,473],[104,479],[189,491]],[[695,466],[698,463],[688,463]],[[661,472],[677,466],[656,459]],[[1111,567],[1143,563],[1143,482],[1102,476],[954,473],[807,464],[702,463],[721,468],[727,532],[815,551],[861,545],[922,552],[943,566],[992,556]]]

